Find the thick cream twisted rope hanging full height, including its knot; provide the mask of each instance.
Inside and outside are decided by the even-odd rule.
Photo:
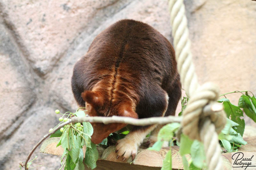
[[[223,169],[223,166],[217,133],[220,133],[225,126],[226,114],[222,109],[217,112],[214,112],[214,109],[204,109],[217,100],[219,88],[212,83],[199,86],[195,67],[192,63],[183,0],[169,0],[169,10],[171,11],[170,18],[177,68],[183,88],[187,96],[190,97],[183,112],[182,132],[191,139],[202,141],[208,169],[220,170]]]

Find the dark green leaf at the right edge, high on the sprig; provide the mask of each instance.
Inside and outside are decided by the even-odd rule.
[[[249,96],[242,95],[238,101],[238,106],[243,108],[244,113],[256,122],[256,108]]]

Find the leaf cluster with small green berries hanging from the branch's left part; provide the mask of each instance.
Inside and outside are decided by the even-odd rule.
[[[69,117],[86,116],[84,112],[85,111],[78,111],[77,109],[76,113],[67,112],[69,114],[61,114],[58,111],[55,113],[63,116],[67,115],[68,117],[66,119],[59,119],[61,122],[65,122],[65,120],[68,120]],[[58,125],[56,127],[58,127]],[[51,137],[60,137],[60,141],[57,146],[61,145],[61,147],[64,149],[61,157],[61,166],[59,169],[64,167],[64,170],[84,170],[84,152],[82,149],[84,145],[86,146],[84,163],[88,166],[88,168],[94,169],[96,167],[96,161],[98,160],[98,151],[96,145],[91,143],[91,136],[93,133],[91,123],[82,122],[82,125],[81,123],[70,123],[64,126],[62,130],[63,132],[57,130],[51,135]]]

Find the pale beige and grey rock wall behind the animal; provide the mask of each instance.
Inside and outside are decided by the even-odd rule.
[[[167,6],[163,0],[0,0],[1,169],[18,169],[58,123],[55,109],[77,108],[73,66],[102,30],[132,18],[172,42]],[[185,0],[185,6],[199,82],[213,81],[221,93],[256,94],[256,2]],[[237,104],[239,95],[228,97]],[[35,169],[59,168],[58,156],[40,154],[39,148],[35,155],[34,165],[43,165]]]

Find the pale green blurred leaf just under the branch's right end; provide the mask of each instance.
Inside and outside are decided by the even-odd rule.
[[[173,137],[173,131],[180,127],[180,123],[169,123],[162,127],[157,135],[157,140],[170,141]]]

